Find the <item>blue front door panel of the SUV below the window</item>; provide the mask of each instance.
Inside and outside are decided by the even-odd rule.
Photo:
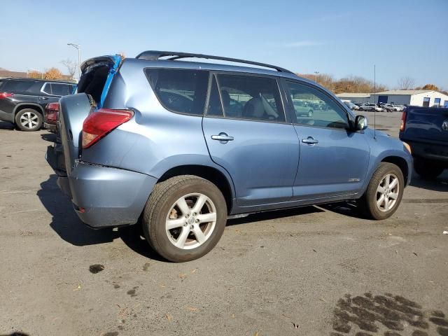
[[[304,125],[295,125],[295,130],[301,148],[295,199],[354,195],[362,189],[370,157],[365,134]],[[302,142],[308,137],[318,143]]]

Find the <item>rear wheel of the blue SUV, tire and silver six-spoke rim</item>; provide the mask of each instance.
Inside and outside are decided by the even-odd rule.
[[[223,235],[227,204],[214,183],[193,175],[158,183],[143,214],[148,243],[172,262],[209,253]]]

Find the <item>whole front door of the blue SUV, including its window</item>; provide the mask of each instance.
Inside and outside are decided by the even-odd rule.
[[[369,164],[370,147],[363,132],[349,130],[347,111],[317,87],[286,81],[290,101],[300,100],[312,116],[295,111],[300,162],[293,186],[295,200],[358,193]],[[295,108],[295,104],[289,104]]]

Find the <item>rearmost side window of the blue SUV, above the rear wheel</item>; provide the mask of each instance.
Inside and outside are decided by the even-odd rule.
[[[209,71],[148,68],[145,72],[155,95],[165,109],[202,116]]]

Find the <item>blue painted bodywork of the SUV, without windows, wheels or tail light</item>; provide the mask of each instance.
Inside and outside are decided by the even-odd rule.
[[[50,158],[60,152],[47,153],[49,162],[65,162],[66,176],[59,176],[59,186],[90,226],[137,223],[155,183],[171,169],[182,167],[207,167],[221,174],[230,188],[229,214],[359,198],[379,162],[391,157],[405,162],[409,182],[412,158],[401,141],[381,132],[374,137],[369,129],[354,132],[294,125],[288,121],[292,120],[288,111],[286,123],[174,113],[160,104],[144,69],[258,73],[274,76],[279,83],[282,78],[301,80],[331,94],[292,73],[200,62],[122,62],[118,57],[90,59],[82,69],[100,65],[108,66],[108,75],[99,105],[91,106],[85,93],[62,98],[59,128],[64,160]],[[130,109],[134,117],[81,149],[83,120],[98,107]],[[343,109],[352,123],[353,113],[346,106]],[[211,139],[222,132],[233,140]],[[302,143],[307,137],[318,144]],[[55,171],[62,169],[55,167]]]

